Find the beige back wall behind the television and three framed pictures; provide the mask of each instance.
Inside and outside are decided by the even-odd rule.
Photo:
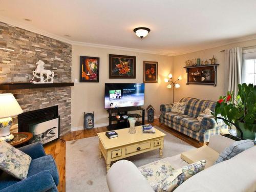
[[[136,56],[136,79],[109,79],[109,54]],[[79,57],[100,57],[100,82],[79,82]],[[80,127],[83,124],[83,112],[95,114],[95,124],[108,123],[108,113],[104,110],[104,83],[105,82],[143,82],[143,61],[158,62],[158,83],[145,83],[145,108],[152,104],[156,109],[155,116],[160,115],[161,103],[172,101],[172,94],[166,88],[164,78],[172,71],[173,57],[155,54],[128,52],[123,50],[72,46],[72,82],[78,83],[72,87],[72,125]]]

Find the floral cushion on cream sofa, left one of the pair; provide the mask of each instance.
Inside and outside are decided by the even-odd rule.
[[[140,172],[146,178],[151,187],[172,174],[174,168],[167,161],[157,161],[140,168]]]

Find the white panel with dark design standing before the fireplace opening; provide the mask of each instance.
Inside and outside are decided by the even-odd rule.
[[[28,131],[33,134],[29,143],[49,143],[59,138],[59,117],[47,121],[32,123],[28,125]]]

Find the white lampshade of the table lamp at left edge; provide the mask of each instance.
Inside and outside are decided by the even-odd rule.
[[[0,118],[12,117],[21,113],[23,110],[11,93],[0,94]]]

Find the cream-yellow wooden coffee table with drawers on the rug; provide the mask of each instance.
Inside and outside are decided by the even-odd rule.
[[[159,155],[162,157],[164,133],[155,128],[155,134],[143,134],[141,126],[136,126],[136,134],[130,134],[128,133],[129,129],[115,130],[118,133],[118,137],[112,139],[106,137],[105,132],[97,134],[99,137],[99,157],[101,158],[103,155],[105,158],[107,172],[113,161],[158,148]]]

